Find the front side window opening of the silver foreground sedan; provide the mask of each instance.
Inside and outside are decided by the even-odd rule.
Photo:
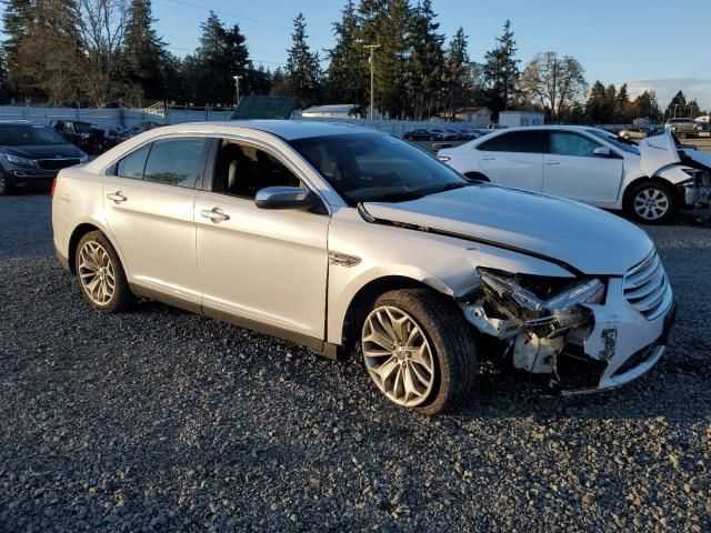
[[[250,144],[223,140],[214,165],[213,191],[253,199],[266,187],[300,187],[281,161]]]

